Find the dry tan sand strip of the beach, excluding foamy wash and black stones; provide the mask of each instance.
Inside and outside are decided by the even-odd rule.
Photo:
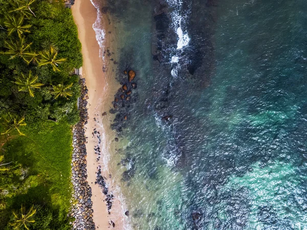
[[[102,64],[99,58],[100,47],[96,40],[95,31],[92,28],[92,25],[96,21],[97,10],[92,5],[90,0],[76,1],[71,9],[75,24],[78,27],[78,37],[82,44],[82,75],[86,79],[86,86],[89,90],[89,99],[87,99],[89,120],[85,125],[85,136],[89,138],[87,139],[87,143],[85,145],[88,153],[87,181],[92,188],[92,208],[94,211],[93,222],[95,223],[96,228],[107,229],[109,227],[107,207],[103,201],[104,197],[102,196],[99,185],[95,184],[96,169],[99,166],[99,164],[96,162],[96,156],[93,153],[95,141],[90,138],[92,127],[94,127],[96,124],[93,118],[98,118],[100,116],[100,111],[96,111],[96,108],[99,109],[98,102],[99,99],[102,98],[101,92],[106,85],[105,78],[103,77],[104,73],[102,71]],[[96,112],[98,115],[95,115]]]

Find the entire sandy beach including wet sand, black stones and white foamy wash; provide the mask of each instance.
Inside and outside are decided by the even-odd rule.
[[[117,47],[114,33],[109,32],[115,31],[110,26],[110,19],[107,15],[100,14],[93,4],[91,0],[78,0],[71,7],[82,44],[83,66],[80,74],[86,79],[89,96],[86,107],[88,119],[84,123],[87,138],[87,181],[91,186],[96,229],[117,230],[127,226],[127,210],[119,192],[118,181],[114,181],[111,176],[113,169],[109,169],[110,154],[113,153],[111,149],[116,137],[110,127],[115,115],[109,113],[109,109],[113,108],[114,94],[121,86],[115,79],[115,61],[104,58],[111,55],[109,50],[115,52]],[[100,28],[97,27],[97,21]],[[104,33],[99,42],[97,29],[98,36]],[[104,49],[108,55],[104,55]]]

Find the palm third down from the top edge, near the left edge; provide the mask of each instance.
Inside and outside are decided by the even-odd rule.
[[[23,58],[28,64],[37,56],[36,53],[31,52],[30,44],[25,44],[25,37],[21,38],[19,41],[5,41],[5,47],[9,50],[4,52],[4,54],[11,55],[10,59],[19,56]]]

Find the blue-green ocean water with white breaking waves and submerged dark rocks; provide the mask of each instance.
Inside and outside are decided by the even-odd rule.
[[[119,91],[110,108],[125,227],[307,229],[305,1],[98,9],[117,37],[117,80],[130,89],[123,71],[136,72],[130,100]]]

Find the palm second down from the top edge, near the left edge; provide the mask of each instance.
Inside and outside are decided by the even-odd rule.
[[[6,17],[6,20],[4,21],[4,25],[8,28],[8,35],[11,35],[14,31],[17,31],[19,38],[21,39],[21,35],[25,32],[30,33],[30,30],[28,28],[31,27],[31,25],[25,25],[24,23],[24,16],[21,15],[19,18],[16,18],[15,16],[8,15]]]

